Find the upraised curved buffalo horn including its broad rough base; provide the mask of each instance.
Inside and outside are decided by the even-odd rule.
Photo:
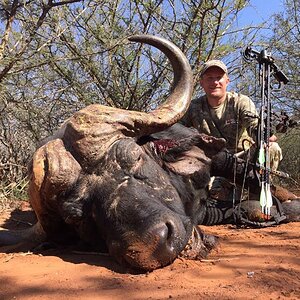
[[[168,128],[186,112],[192,97],[190,65],[173,43],[152,35],[135,35],[130,41],[153,45],[167,55],[174,70],[171,95],[150,113],[93,104],[77,112],[65,123],[64,144],[82,166],[93,166],[108,147],[124,137],[138,138]]]

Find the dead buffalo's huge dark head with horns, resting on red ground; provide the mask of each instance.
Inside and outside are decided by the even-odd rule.
[[[216,173],[225,169],[219,155],[225,141],[175,124],[193,89],[183,53],[159,37],[129,40],[150,44],[169,58],[171,95],[150,113],[94,104],[68,119],[37,149],[29,168],[38,223],[22,236],[2,232],[0,245],[81,240],[143,270],[179,255],[201,259],[215,246],[216,239],[196,225],[205,223],[209,211],[211,158],[220,158]]]

